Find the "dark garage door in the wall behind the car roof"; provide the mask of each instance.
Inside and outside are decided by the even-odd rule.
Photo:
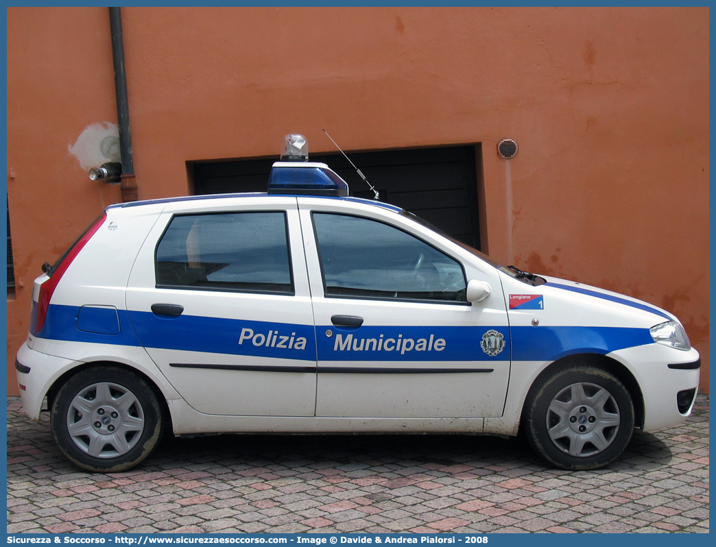
[[[350,153],[379,191],[380,200],[412,211],[450,236],[480,248],[478,182],[480,147],[459,146]],[[327,163],[349,185],[351,195],[373,198],[367,184],[342,155],[310,155]],[[265,192],[274,159],[194,163],[194,193]]]

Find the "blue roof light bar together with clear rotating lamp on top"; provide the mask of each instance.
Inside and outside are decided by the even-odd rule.
[[[281,144],[281,161],[271,168],[269,193],[345,196],[348,183],[325,163],[309,162],[308,140],[291,133]]]

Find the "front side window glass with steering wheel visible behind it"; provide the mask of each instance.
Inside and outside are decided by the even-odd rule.
[[[458,261],[369,218],[314,213],[326,296],[466,301]]]

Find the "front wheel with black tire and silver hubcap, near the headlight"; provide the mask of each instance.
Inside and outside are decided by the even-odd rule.
[[[634,431],[634,405],[613,374],[589,366],[563,369],[530,390],[523,413],[533,449],[567,470],[599,469],[619,458]]]

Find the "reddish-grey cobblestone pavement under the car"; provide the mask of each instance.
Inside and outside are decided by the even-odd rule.
[[[709,531],[705,396],[682,427],[579,473],[495,437],[221,435],[92,475],[20,407],[9,397],[9,533]]]

